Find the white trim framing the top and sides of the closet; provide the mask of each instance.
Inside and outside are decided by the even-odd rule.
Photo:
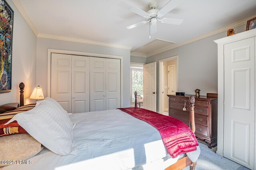
[[[120,61],[121,61],[121,101],[120,102],[121,102],[121,107],[123,107],[123,56],[97,54],[97,53],[85,53],[85,52],[80,52],[80,51],[48,49],[48,53],[47,53],[47,96],[51,96],[51,53],[120,59]]]

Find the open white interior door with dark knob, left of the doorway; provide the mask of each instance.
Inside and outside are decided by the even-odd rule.
[[[143,65],[143,108],[156,111],[156,62]]]

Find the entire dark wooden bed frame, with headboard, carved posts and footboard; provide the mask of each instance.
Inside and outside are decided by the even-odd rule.
[[[20,87],[20,104],[19,103],[4,104],[0,106],[0,114],[6,111],[14,110],[20,106],[24,106],[24,96],[23,96],[24,87],[25,87],[24,83],[20,83],[19,87]],[[137,107],[137,92],[134,92],[134,95],[135,95],[135,107]],[[189,101],[184,101],[184,102],[190,103],[190,129],[194,133],[195,132],[195,120],[194,120],[195,98],[193,96],[190,96]],[[178,159],[178,161],[175,164],[168,166],[165,170],[182,170],[187,166],[190,166],[190,170],[195,170],[196,162],[192,162],[186,155]]]

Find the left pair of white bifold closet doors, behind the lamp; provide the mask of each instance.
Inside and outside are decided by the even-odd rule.
[[[68,113],[90,111],[90,57],[51,55],[51,98]]]

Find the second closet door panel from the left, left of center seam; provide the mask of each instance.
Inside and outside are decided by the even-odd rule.
[[[90,111],[90,57],[72,55],[72,113]]]

